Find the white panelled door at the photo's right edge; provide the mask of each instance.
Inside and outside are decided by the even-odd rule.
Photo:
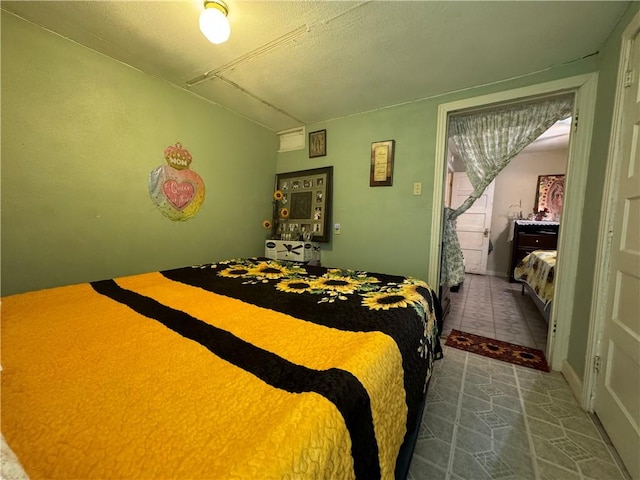
[[[640,17],[638,17],[640,18]],[[638,23],[636,23],[638,25]],[[632,478],[640,478],[640,41],[632,44],[617,173],[601,368],[594,410]],[[615,140],[614,140],[615,141]]]

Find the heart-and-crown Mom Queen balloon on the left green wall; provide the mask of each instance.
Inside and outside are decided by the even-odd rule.
[[[164,158],[167,165],[160,165],[149,174],[149,195],[170,220],[188,220],[204,202],[204,182],[189,169],[192,157],[180,142],[165,148]]]

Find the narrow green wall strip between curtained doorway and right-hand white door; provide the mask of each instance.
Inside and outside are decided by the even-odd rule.
[[[567,362],[580,378],[584,378],[591,304],[594,301],[592,296],[593,276],[596,267],[598,230],[618,80],[620,42],[622,32],[639,10],[639,2],[633,2],[629,6],[603,48],[600,49],[599,55],[598,95],[586,185],[586,191],[589,194],[585,196],[582,234],[580,237],[580,258],[582,261],[578,265],[576,274],[577,295],[573,306],[571,338],[567,353]]]

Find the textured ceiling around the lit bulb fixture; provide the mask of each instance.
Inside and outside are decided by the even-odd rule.
[[[200,0],[1,6],[279,131],[591,55],[628,3],[228,0],[222,45]]]

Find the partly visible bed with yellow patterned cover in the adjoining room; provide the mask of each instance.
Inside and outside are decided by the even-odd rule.
[[[531,296],[547,323],[551,316],[557,250],[534,250],[516,266],[513,277]]]

